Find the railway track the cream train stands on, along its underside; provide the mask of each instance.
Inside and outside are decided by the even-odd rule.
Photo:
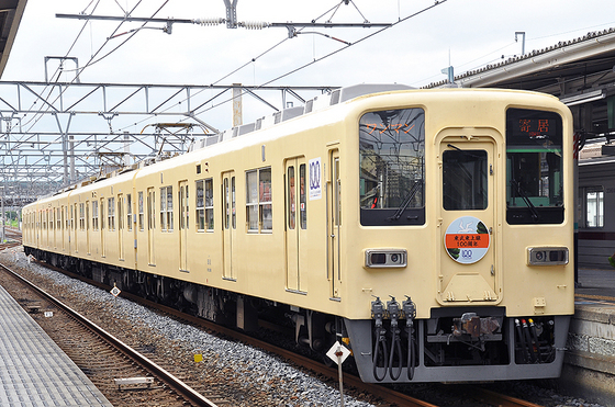
[[[101,284],[94,281],[91,281],[89,279],[85,279],[78,274],[75,273],[70,273],[64,270],[59,270],[57,268],[53,268],[49,264],[46,263],[41,263],[42,265],[45,265],[47,268],[52,268],[56,271],[63,272],[64,274],[67,274],[71,278],[75,279],[79,279],[81,281],[85,281],[89,284],[99,286],[100,289],[103,289],[105,291],[109,291],[111,287],[105,285],[105,284]],[[234,340],[237,341],[242,341],[244,343],[250,344],[253,347],[262,349],[265,351],[275,353],[280,355],[281,358],[283,358],[284,360],[288,360],[299,366],[302,366],[304,369],[308,369],[312,372],[314,372],[317,375],[322,375],[327,377],[329,381],[337,381],[338,378],[338,372],[337,369],[333,369],[333,368],[327,368],[324,364],[314,361],[312,359],[305,358],[303,355],[297,354],[292,351],[279,348],[275,344],[268,343],[266,341],[256,339],[251,336],[235,331],[233,329],[228,329],[225,327],[222,327],[220,325],[210,323],[208,320],[204,320],[202,318],[199,317],[194,317],[185,313],[181,313],[175,308],[158,304],[158,303],[154,303],[147,299],[144,299],[142,297],[138,297],[136,295],[133,295],[131,293],[127,292],[122,292],[121,294],[122,297],[126,298],[126,299],[131,299],[134,301],[136,303],[139,303],[146,307],[149,308],[154,308],[157,309],[158,312],[161,312],[168,316],[171,316],[176,319],[180,319],[182,321],[189,323],[193,326],[198,326],[201,327],[203,329],[210,330],[210,331],[215,331],[220,335],[223,335],[225,337],[232,338]],[[366,393],[366,394],[371,394],[372,396],[379,397],[384,405],[398,405],[398,406],[410,406],[410,407],[437,407],[437,405],[433,404],[433,403],[428,403],[422,399],[418,399],[416,397],[412,397],[409,396],[406,394],[403,394],[401,392],[398,392],[393,388],[387,387],[387,386],[381,386],[378,384],[369,384],[369,383],[364,383],[360,381],[359,377],[350,375],[350,374],[344,374],[344,386],[345,387],[353,387],[356,392],[358,393]],[[454,393],[450,389],[447,389],[447,386],[439,386],[438,392],[449,392],[449,393]],[[476,406],[502,406],[502,407],[540,407],[537,404],[534,403],[529,403],[519,398],[515,398],[515,397],[510,397],[506,395],[502,395],[502,394],[497,394],[488,389],[483,389],[481,387],[477,387],[477,386],[463,386],[463,397],[465,398],[472,398],[476,400]]]

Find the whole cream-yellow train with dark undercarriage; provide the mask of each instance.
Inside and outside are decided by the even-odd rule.
[[[41,199],[23,242],[204,318],[344,342],[366,382],[555,377],[571,156],[552,97],[357,86]]]

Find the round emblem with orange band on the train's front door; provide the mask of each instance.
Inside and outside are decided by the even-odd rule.
[[[458,263],[472,264],[489,250],[489,230],[473,216],[461,216],[452,221],[444,235],[448,256]]]

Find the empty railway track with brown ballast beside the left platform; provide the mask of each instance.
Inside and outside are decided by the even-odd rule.
[[[0,264],[0,284],[33,313],[34,319],[54,340],[60,339],[56,340],[58,346],[114,406],[228,405],[223,397],[216,397],[219,400],[214,403],[199,394],[153,360],[8,267]],[[53,312],[54,316],[45,318],[38,310]]]

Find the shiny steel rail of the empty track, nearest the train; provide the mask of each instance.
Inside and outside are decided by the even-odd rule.
[[[152,360],[147,359],[145,355],[138,353],[133,348],[131,348],[126,343],[122,342],[120,339],[115,338],[114,336],[112,336],[111,333],[105,331],[103,328],[99,327],[98,325],[96,325],[94,323],[92,323],[91,320],[89,320],[88,318],[86,318],[85,316],[82,316],[81,314],[76,312],[75,309],[70,308],[68,305],[66,305],[63,302],[60,302],[59,299],[55,298],[53,295],[48,294],[43,289],[38,287],[37,285],[30,282],[29,280],[22,278],[21,275],[19,275],[18,273],[15,273],[14,271],[12,271],[11,269],[9,269],[7,265],[4,265],[2,263],[0,263],[0,268],[5,270],[8,273],[12,274],[18,280],[22,281],[24,284],[31,286],[34,291],[36,291],[37,293],[43,295],[46,299],[54,303],[58,308],[66,312],[72,318],[75,318],[79,323],[83,324],[90,330],[92,330],[93,332],[96,332],[97,335],[102,337],[104,340],[107,340],[108,342],[113,344],[113,347],[118,348],[121,352],[123,352],[124,354],[126,354],[127,357],[130,357],[131,359],[136,361],[137,363],[139,363],[142,366],[144,366],[152,374],[154,374],[155,376],[160,378],[163,382],[165,382],[167,385],[169,385],[175,392],[180,394],[186,399],[190,400],[191,403],[193,403],[197,406],[217,407],[216,404],[214,404],[213,402],[211,402],[206,397],[199,394],[197,391],[194,391],[192,387],[188,386],[186,383],[183,383],[182,381],[180,381],[179,378],[174,376],[171,373],[166,371],[164,368],[159,366],[158,364],[156,364]]]

